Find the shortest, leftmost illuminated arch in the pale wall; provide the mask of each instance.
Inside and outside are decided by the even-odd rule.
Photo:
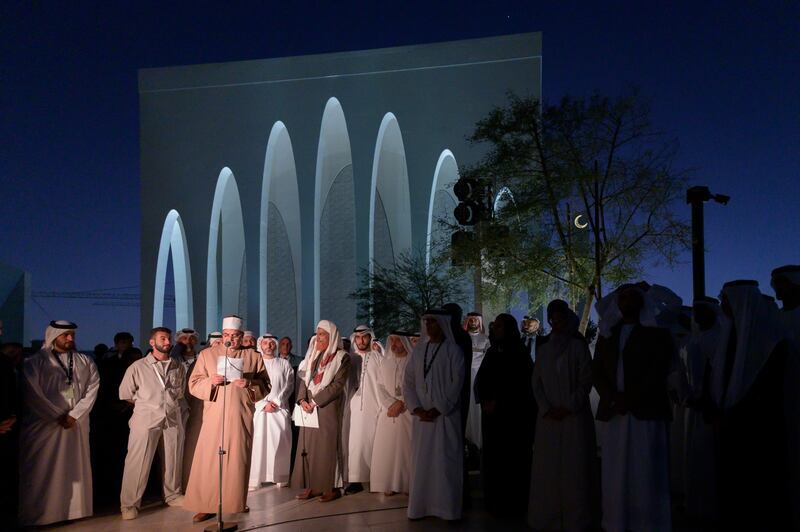
[[[172,271],[175,282],[176,329],[194,327],[192,301],[192,270],[189,266],[189,248],[186,231],[178,211],[171,210],[164,220],[161,243],[158,246],[156,282],[153,295],[153,327],[164,325],[164,289],[167,283],[167,266],[172,254]]]

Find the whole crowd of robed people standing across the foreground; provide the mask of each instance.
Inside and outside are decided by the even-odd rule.
[[[671,530],[676,492],[709,529],[800,530],[800,266],[772,286],[780,308],[755,281],[691,307],[625,284],[597,302],[593,342],[563,300],[548,334],[509,314],[487,331],[454,304],[385,344],[322,320],[304,357],[237,316],[204,347],[156,327],[146,354],[119,333],[94,356],[53,321],[35,354],[2,345],[0,445],[19,473],[2,504],[44,525],[118,494],[135,519],[158,460],[164,502],[194,522],[249,511],[268,484],[322,503],[406,494],[409,519],[458,520],[472,449],[486,510],[534,530]]]

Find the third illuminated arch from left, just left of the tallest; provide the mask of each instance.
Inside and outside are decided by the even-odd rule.
[[[261,186],[259,334],[290,336],[301,345],[300,195],[289,131],[275,122]]]

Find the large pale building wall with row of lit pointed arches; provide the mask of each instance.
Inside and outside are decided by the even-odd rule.
[[[540,97],[541,65],[529,33],[140,71],[142,329],[174,282],[203,337],[228,313],[296,345],[348,331],[362,268],[449,242],[467,135]]]

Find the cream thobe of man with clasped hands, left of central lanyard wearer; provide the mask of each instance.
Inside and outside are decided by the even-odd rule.
[[[403,401],[403,380],[408,356],[396,357],[389,352],[381,361],[378,375],[378,424],[370,466],[370,491],[408,493],[411,485],[411,413],[389,417],[387,410],[396,401]]]

